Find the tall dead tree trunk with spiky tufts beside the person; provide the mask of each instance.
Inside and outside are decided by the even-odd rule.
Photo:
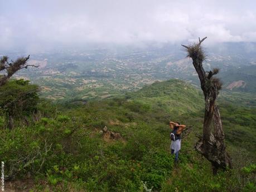
[[[205,60],[205,52],[201,43],[206,38],[204,37],[202,40],[199,38],[198,43],[182,46],[186,48],[187,57],[192,58],[205,96],[203,136],[195,144],[195,148],[211,162],[212,171],[216,174],[218,169],[226,170],[226,168],[232,168],[232,165],[231,158],[226,152],[219,107],[215,102],[222,85],[219,78],[214,77],[219,72],[219,69],[214,68],[212,71],[207,72],[202,67],[202,62]]]

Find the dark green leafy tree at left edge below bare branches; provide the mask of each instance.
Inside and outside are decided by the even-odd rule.
[[[38,86],[30,81],[11,80],[0,86],[0,107],[6,112],[9,129],[13,128],[13,118],[28,115],[36,110]]]

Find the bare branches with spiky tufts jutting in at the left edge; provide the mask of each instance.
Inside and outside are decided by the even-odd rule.
[[[27,60],[30,58],[30,55],[27,57],[21,57],[18,58],[16,61],[8,62],[8,57],[3,56],[0,59],[0,72],[6,71],[6,74],[0,76],[0,86],[4,85],[9,78],[12,77],[14,73],[16,73],[18,70],[21,70],[22,68],[27,68],[28,66],[32,67],[38,67],[35,65],[27,65]]]

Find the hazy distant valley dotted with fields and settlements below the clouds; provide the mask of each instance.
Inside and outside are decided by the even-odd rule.
[[[253,42],[205,45],[205,70],[220,68],[225,91],[255,93],[255,47]],[[11,58],[24,55],[8,54]],[[180,44],[63,48],[32,54],[30,62],[40,68],[23,70],[16,77],[37,83],[42,96],[53,100],[105,98],[170,78],[199,85],[192,61]]]

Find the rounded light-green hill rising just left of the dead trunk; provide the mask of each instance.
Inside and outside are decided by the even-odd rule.
[[[204,106],[202,92],[181,80],[154,82],[128,95],[133,100],[177,114],[199,111]]]

